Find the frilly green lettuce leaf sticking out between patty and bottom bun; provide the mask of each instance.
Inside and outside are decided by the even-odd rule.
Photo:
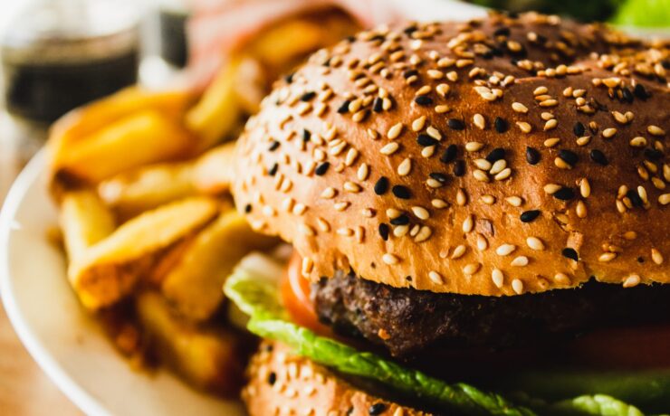
[[[584,395],[551,404],[525,398],[524,404],[519,404],[494,392],[484,392],[464,383],[445,383],[379,355],[359,352],[292,323],[277,297],[276,282],[255,276],[251,270],[236,269],[226,280],[224,291],[249,315],[247,328],[255,335],[289,345],[296,355],[340,373],[373,380],[445,409],[466,415],[643,415],[636,407],[604,394]]]

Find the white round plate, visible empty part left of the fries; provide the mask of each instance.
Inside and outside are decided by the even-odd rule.
[[[0,292],[16,333],[35,361],[91,415],[236,415],[235,401],[196,392],[165,371],[133,371],[81,308],[61,251],[47,241],[56,210],[44,154],[12,186],[0,213]]]

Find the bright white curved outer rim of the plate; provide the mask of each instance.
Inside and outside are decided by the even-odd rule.
[[[31,158],[16,177],[0,211],[0,296],[14,332],[28,354],[33,357],[35,363],[40,366],[56,387],[85,414],[111,415],[111,412],[102,406],[101,402],[91,395],[91,392],[88,392],[72,379],[53,354],[40,342],[34,330],[25,320],[14,298],[12,272],[9,265],[9,247],[12,240],[14,218],[27,191],[39,181],[45,166],[46,150],[43,148]]]

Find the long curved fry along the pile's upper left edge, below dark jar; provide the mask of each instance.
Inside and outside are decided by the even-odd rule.
[[[180,120],[193,102],[193,94],[183,90],[151,91],[129,87],[110,97],[74,109],[56,121],[49,132],[47,149],[53,175],[75,144],[101,128],[142,110],[153,109],[172,120]]]

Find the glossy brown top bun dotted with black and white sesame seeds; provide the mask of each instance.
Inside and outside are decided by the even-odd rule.
[[[541,14],[359,33],[263,101],[235,200],[312,279],[668,283],[668,64],[667,44]]]

